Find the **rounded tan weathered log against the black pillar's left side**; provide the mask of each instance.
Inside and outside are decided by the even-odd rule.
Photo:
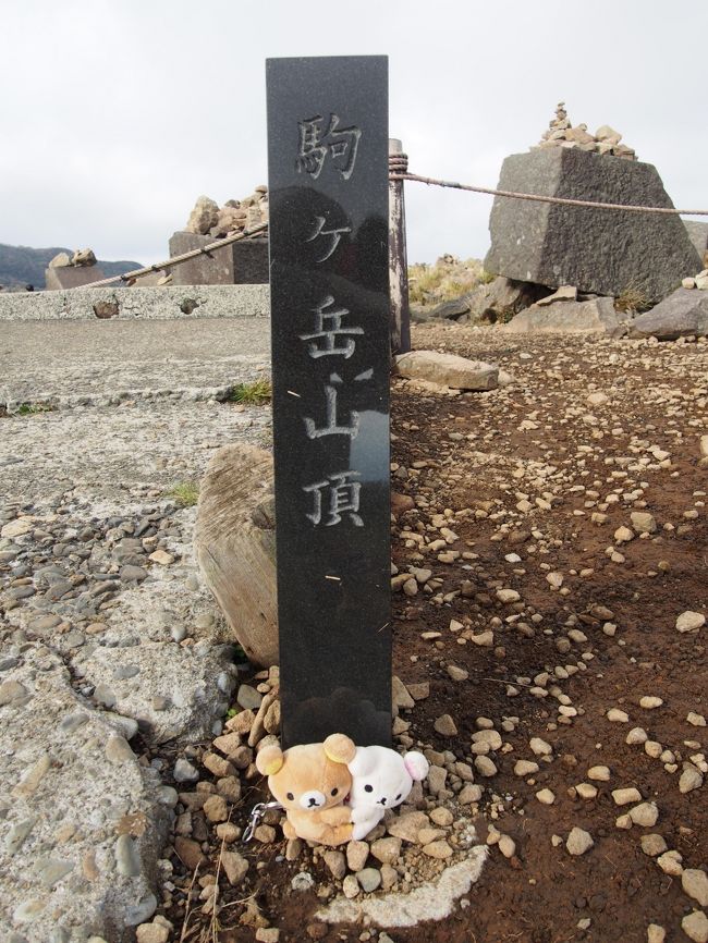
[[[248,659],[278,663],[273,461],[225,445],[202,481],[194,536],[205,581]]]

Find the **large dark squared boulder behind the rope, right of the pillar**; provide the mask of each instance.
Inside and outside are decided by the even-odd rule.
[[[548,148],[504,160],[500,189],[595,203],[672,207],[655,167]],[[485,269],[518,281],[659,301],[703,268],[678,216],[622,212],[496,197]]]

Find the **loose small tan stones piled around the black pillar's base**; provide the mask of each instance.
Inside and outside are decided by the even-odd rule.
[[[399,711],[412,710],[428,696],[429,685],[406,687],[400,678],[393,678],[393,731],[402,748],[411,748],[416,742],[408,733],[411,722],[398,717]],[[172,875],[163,883],[163,907],[171,922],[185,920],[191,907],[196,923],[215,920],[222,908],[229,908],[240,923],[269,931],[269,936],[261,933],[257,940],[277,941],[278,928],[270,926],[251,891],[265,868],[264,850],[283,841],[283,813],[267,810],[255,829],[253,844],[243,844],[249,807],[270,798],[254,791],[264,785],[255,756],[277,742],[277,666],[240,686],[232,713],[224,732],[212,744],[187,747],[174,763],[173,776],[180,792],[174,837],[164,853],[172,861]],[[489,752],[490,744],[496,748],[489,731],[480,737],[484,743],[473,746],[473,754]],[[316,891],[321,903],[320,921],[356,920],[369,907],[376,909],[381,892],[390,892],[386,898],[391,921],[388,926],[440,918],[477,879],[486,852],[479,846],[472,821],[484,793],[475,784],[474,758],[463,758],[452,749],[438,751],[430,744],[418,743],[416,748],[424,750],[430,763],[427,781],[416,783],[406,804],[395,812],[387,810],[384,820],[366,841],[352,841],[340,848],[301,838],[284,843],[277,860],[286,869],[292,892]],[[513,855],[514,843],[508,836],[497,833],[496,841],[503,854]],[[197,869],[196,883],[191,884],[190,878]],[[429,896],[422,891],[435,885],[450,869],[454,875],[451,890],[440,889],[439,913],[431,913]],[[242,905],[235,913],[234,898]],[[307,934],[319,939],[324,929],[322,922],[315,922],[307,927]]]

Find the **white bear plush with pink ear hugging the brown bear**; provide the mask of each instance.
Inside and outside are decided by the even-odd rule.
[[[387,809],[403,803],[414,780],[425,780],[430,764],[418,752],[405,756],[387,747],[357,747],[349,766],[352,788],[347,805],[352,809],[352,838],[361,841],[383,818]]]

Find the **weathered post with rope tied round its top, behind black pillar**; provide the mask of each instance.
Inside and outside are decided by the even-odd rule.
[[[405,173],[407,169],[408,158],[403,154],[402,142],[389,138],[389,172]],[[411,350],[411,310],[402,180],[389,180],[389,284],[391,351],[393,354],[405,354]]]

